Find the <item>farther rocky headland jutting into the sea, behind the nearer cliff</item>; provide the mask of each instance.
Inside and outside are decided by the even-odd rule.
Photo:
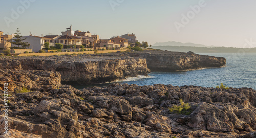
[[[226,64],[226,59],[223,57],[198,55],[193,52],[147,50],[129,53],[129,55],[145,58],[147,67],[153,72],[176,72],[205,67],[221,67]]]

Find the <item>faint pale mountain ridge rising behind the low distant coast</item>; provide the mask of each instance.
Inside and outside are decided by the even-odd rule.
[[[153,44],[153,46],[187,46],[187,47],[216,47],[216,46],[207,46],[207,45],[203,45],[203,44],[196,44],[196,43],[191,43],[191,42],[187,42],[187,43],[182,43],[182,42],[176,42],[176,41],[168,41],[168,42],[157,42],[155,44]]]

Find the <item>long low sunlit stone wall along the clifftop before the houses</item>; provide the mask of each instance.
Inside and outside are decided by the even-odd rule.
[[[18,56],[53,56],[53,55],[66,55],[66,54],[101,54],[101,53],[116,53],[117,51],[124,52],[125,50],[105,50],[105,51],[83,51],[83,52],[58,52],[58,53],[22,53]]]

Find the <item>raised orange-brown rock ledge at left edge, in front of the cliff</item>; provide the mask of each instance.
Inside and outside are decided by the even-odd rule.
[[[8,83],[9,91],[28,90],[47,91],[61,86],[60,74],[50,71],[0,69],[0,88]]]

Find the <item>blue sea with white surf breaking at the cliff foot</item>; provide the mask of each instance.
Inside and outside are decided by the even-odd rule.
[[[172,84],[173,86],[196,85],[216,87],[223,83],[228,87],[249,87],[256,89],[256,53],[198,53],[225,57],[226,65],[218,68],[182,72],[152,72],[148,76],[129,77],[112,83],[137,85]],[[82,89],[90,86],[108,86],[110,83],[96,85],[73,85]]]

